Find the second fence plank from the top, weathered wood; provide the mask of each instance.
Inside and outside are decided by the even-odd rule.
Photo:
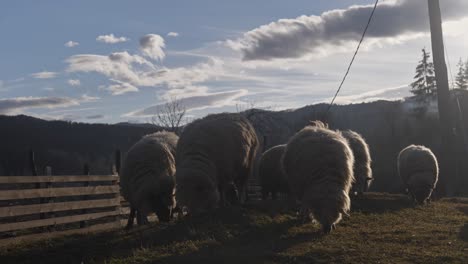
[[[118,185],[0,191],[0,201],[119,193]]]

